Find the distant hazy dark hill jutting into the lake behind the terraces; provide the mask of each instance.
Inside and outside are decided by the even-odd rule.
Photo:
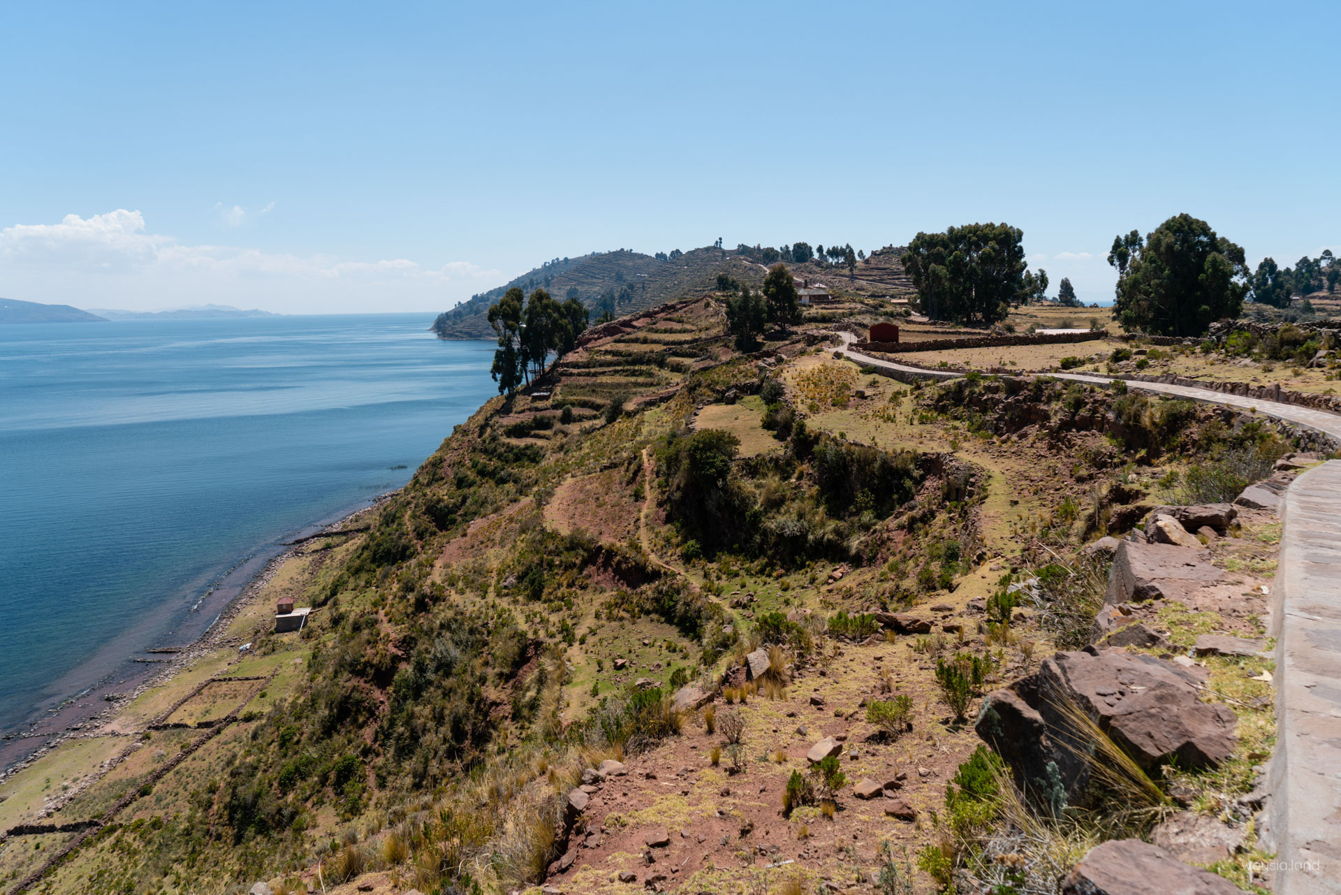
[[[514,286],[527,294],[546,288],[559,301],[567,298],[569,290],[577,290],[575,295],[591,309],[591,319],[595,321],[602,301],[613,302],[614,314],[622,317],[715,288],[717,274],[759,286],[764,272],[764,267],[740,254],[713,247],[665,259],[626,250],[557,258],[439,314],[432,329],[439,338],[493,338],[488,322],[489,306]]]

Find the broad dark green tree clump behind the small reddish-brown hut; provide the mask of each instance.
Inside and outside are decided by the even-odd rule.
[[[1023,236],[1010,224],[917,233],[901,260],[921,313],[936,321],[990,325],[1003,319],[1012,302],[1026,301],[1030,290],[1041,294],[1047,288],[1046,275],[1025,279]]]

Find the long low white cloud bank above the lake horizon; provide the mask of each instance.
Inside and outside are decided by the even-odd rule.
[[[274,203],[257,213],[272,208]],[[231,220],[233,212],[245,220],[247,212],[236,205],[225,216]],[[208,295],[248,306],[268,299],[271,310],[445,309],[500,278],[499,271],[469,262],[428,267],[405,258],[361,262],[185,246],[146,232],[143,215],[126,209],[0,229],[0,294],[75,306],[109,307],[121,294],[123,307]]]

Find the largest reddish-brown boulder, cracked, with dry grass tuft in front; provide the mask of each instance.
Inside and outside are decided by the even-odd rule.
[[[1145,770],[1216,768],[1234,749],[1235,714],[1200,700],[1195,674],[1125,649],[1058,652],[1039,670],[983,700],[976,730],[1016,778],[1061,806],[1080,793],[1089,768],[1067,742],[1084,739],[1061,706],[1085,711]]]

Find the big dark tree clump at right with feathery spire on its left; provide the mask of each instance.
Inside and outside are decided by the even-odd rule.
[[[1243,250],[1191,215],[1169,217],[1144,240],[1134,229],[1114,236],[1108,263],[1117,268],[1122,326],[1155,335],[1200,335],[1238,317],[1248,291]]]

